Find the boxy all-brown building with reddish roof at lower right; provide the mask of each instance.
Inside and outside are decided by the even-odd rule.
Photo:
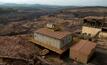
[[[81,63],[87,63],[95,51],[96,44],[81,40],[70,48],[70,58]]]

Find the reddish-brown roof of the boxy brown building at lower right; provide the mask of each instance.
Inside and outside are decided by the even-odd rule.
[[[71,49],[89,55],[95,47],[96,47],[96,43],[94,42],[88,40],[80,40],[77,44],[73,45]]]

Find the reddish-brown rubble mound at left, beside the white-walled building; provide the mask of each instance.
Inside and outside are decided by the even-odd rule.
[[[37,46],[21,36],[0,37],[0,59],[30,61],[39,51]]]

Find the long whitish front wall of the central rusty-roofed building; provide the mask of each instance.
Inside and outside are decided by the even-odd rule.
[[[54,46],[56,48],[61,48],[62,43],[58,39],[54,39],[37,33],[34,33],[34,39],[38,40],[39,42]]]

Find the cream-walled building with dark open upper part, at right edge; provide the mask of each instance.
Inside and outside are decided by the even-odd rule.
[[[107,38],[107,22],[104,18],[86,17],[83,21],[82,34],[88,37]]]

